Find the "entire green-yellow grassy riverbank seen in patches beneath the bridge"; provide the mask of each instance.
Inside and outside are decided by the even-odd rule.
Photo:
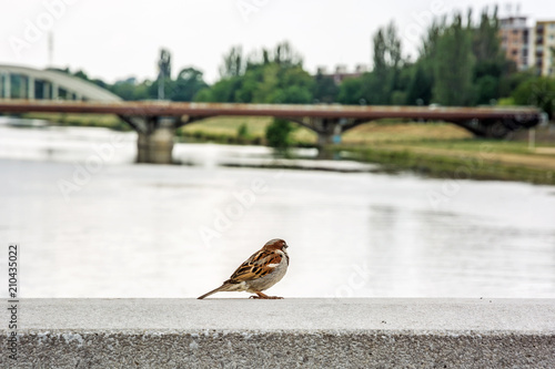
[[[60,125],[129,130],[110,115],[28,114]],[[271,117],[212,117],[176,131],[178,142],[264,145]],[[373,122],[343,135],[335,156],[376,163],[386,171],[414,171],[445,178],[523,181],[555,185],[555,130],[538,127],[511,140],[478,140],[450,123]],[[533,139],[533,141],[529,141]],[[315,134],[297,127],[292,144],[310,147]]]

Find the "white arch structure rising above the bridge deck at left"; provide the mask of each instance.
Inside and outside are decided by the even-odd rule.
[[[110,91],[63,72],[3,64],[0,99],[121,101]]]

